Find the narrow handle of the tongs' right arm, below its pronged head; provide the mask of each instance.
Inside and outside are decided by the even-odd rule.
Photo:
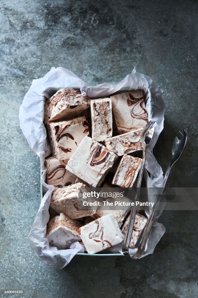
[[[144,227],[144,230],[142,232],[142,237],[141,237],[141,240],[140,240],[140,243],[139,243],[138,250],[137,250],[137,252],[133,256],[130,255],[130,257],[132,259],[139,259],[142,256],[142,254],[144,253],[145,246],[146,246],[146,243],[147,243],[149,234],[150,234],[150,230],[152,228],[153,221],[155,219],[155,215],[156,215],[156,212],[158,210],[158,205],[159,205],[159,202],[161,200],[161,196],[162,196],[162,194],[164,192],[164,187],[166,185],[166,181],[168,179],[168,176],[169,176],[171,167],[172,167],[172,165],[169,165],[168,168],[167,168],[167,170],[166,170],[166,174],[164,176],[164,181],[163,181],[162,186],[160,188],[160,192],[158,194],[157,200],[155,201],[155,204],[153,206],[153,209],[151,210],[151,213],[150,213],[150,216],[148,218],[148,221],[147,221],[147,223],[146,223],[146,225]]]

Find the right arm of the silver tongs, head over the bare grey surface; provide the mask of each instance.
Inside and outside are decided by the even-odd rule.
[[[181,132],[179,132],[179,133],[180,133],[180,136],[179,136],[180,138],[178,139],[177,136],[176,136],[176,138],[173,142],[173,145],[172,145],[172,161],[171,161],[171,163],[169,164],[169,166],[166,170],[166,174],[164,176],[164,181],[163,181],[163,184],[162,184],[162,186],[159,190],[157,200],[155,201],[155,204],[154,204],[153,209],[150,213],[150,216],[148,218],[146,226],[144,227],[144,231],[142,232],[142,236],[141,236],[141,239],[140,239],[140,242],[139,242],[138,250],[133,256],[131,256],[132,259],[139,259],[142,256],[142,254],[144,253],[145,246],[146,246],[149,234],[150,234],[151,227],[153,225],[153,221],[155,219],[155,215],[156,215],[156,212],[157,212],[157,209],[158,209],[158,205],[159,205],[161,196],[163,194],[164,187],[165,187],[166,181],[168,179],[169,173],[171,171],[171,168],[172,168],[173,164],[180,158],[180,156],[183,152],[183,149],[186,145],[186,142],[187,142],[187,139],[188,139],[187,131],[184,130],[183,134]]]

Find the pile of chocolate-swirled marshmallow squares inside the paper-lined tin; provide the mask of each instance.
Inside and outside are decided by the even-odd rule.
[[[82,194],[89,192],[87,187],[105,187],[109,170],[114,173],[112,185],[133,186],[142,160],[131,153],[141,150],[140,136],[147,122],[142,90],[90,99],[79,90],[60,89],[46,101],[44,123],[52,151],[45,159],[46,183],[55,187],[50,207],[58,214],[47,225],[49,243],[67,249],[81,241],[88,253],[122,243],[128,211],[84,207]],[[146,221],[136,214],[131,248]]]

